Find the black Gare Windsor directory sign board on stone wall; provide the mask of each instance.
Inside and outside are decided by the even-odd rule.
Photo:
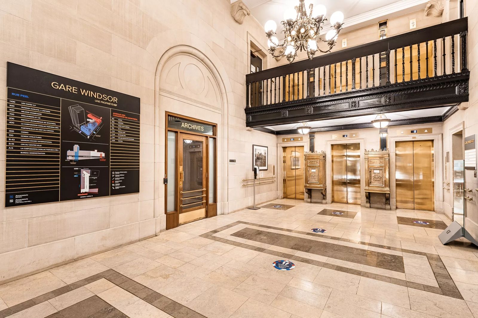
[[[5,206],[140,190],[140,99],[8,63]]]

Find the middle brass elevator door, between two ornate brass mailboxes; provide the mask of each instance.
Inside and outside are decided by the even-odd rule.
[[[332,145],[332,201],[360,204],[360,144]]]

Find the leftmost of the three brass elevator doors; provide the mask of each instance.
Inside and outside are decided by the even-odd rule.
[[[304,146],[282,147],[283,198],[304,200]]]

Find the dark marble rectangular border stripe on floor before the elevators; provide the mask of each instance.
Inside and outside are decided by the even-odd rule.
[[[300,233],[300,234],[305,234],[305,235],[328,238],[328,239],[332,239],[332,240],[336,240],[336,241],[343,241],[343,242],[350,242],[350,243],[355,243],[355,244],[374,246],[374,247],[379,247],[379,248],[398,251],[398,252],[403,252],[403,253],[423,255],[423,256],[426,256],[426,258],[428,260],[428,263],[430,264],[430,266],[432,268],[432,271],[435,275],[435,279],[436,279],[439,287],[428,286],[428,285],[424,285],[424,284],[409,282],[409,281],[406,281],[406,280],[403,280],[403,279],[393,278],[393,277],[389,277],[389,276],[383,276],[383,275],[379,275],[379,274],[373,274],[373,273],[360,271],[360,270],[356,270],[356,269],[352,269],[352,268],[348,268],[348,267],[344,267],[344,266],[328,264],[328,263],[325,263],[325,262],[316,261],[316,260],[308,259],[308,258],[301,257],[301,256],[295,256],[295,255],[292,255],[292,254],[277,252],[277,251],[257,247],[257,246],[254,246],[254,245],[239,243],[239,242],[236,242],[236,241],[231,241],[231,240],[220,238],[220,237],[217,237],[217,236],[212,236],[212,234],[224,231],[224,230],[226,230],[230,227],[233,227],[235,225],[238,225],[238,224],[253,225],[253,226],[258,226],[258,227],[262,227],[262,228],[285,231],[285,232],[289,232],[289,233]],[[258,252],[262,252],[262,253],[266,253],[266,254],[271,254],[271,255],[276,255],[276,256],[281,257],[282,259],[293,259],[293,260],[296,260],[298,262],[307,263],[307,264],[311,264],[311,265],[316,265],[316,266],[320,266],[320,267],[326,267],[326,268],[334,269],[334,270],[344,272],[344,273],[349,273],[349,274],[354,274],[354,275],[357,275],[357,276],[368,277],[368,278],[377,279],[377,280],[380,280],[380,281],[392,283],[392,284],[395,284],[395,285],[407,286],[407,287],[410,287],[410,288],[420,289],[420,290],[428,291],[428,292],[435,293],[435,294],[440,294],[440,295],[445,295],[445,296],[449,296],[449,297],[453,297],[453,298],[463,299],[463,297],[461,296],[461,293],[459,292],[458,288],[456,288],[455,282],[453,281],[453,279],[451,278],[450,274],[448,273],[445,265],[443,264],[443,261],[441,260],[440,255],[436,255],[436,254],[428,254],[428,253],[424,253],[424,252],[402,249],[402,248],[392,247],[392,246],[387,246],[387,245],[373,244],[373,243],[356,241],[356,240],[349,240],[349,239],[341,239],[341,238],[338,238],[338,237],[323,235],[323,234],[320,234],[320,233],[308,233],[308,232],[303,232],[303,231],[296,231],[296,230],[291,230],[291,229],[278,228],[278,227],[274,227],[274,226],[262,225],[262,224],[244,222],[244,221],[237,221],[237,222],[234,222],[234,223],[230,223],[228,225],[217,228],[216,230],[212,230],[212,231],[209,231],[207,233],[204,233],[200,236],[204,237],[204,238],[211,239],[211,240],[215,240],[215,241],[218,241],[218,242],[247,248],[247,249],[254,250],[254,251],[258,251]]]

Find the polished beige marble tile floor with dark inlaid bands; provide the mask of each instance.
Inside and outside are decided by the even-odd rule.
[[[287,210],[265,207],[274,205]],[[449,224],[445,215],[263,206],[1,285],[0,318],[478,318],[478,248],[442,245],[442,230],[407,223]],[[276,260],[295,268],[277,270]]]

